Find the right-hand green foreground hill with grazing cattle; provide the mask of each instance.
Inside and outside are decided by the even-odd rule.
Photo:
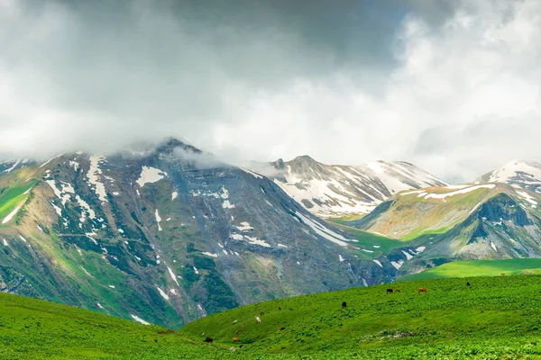
[[[467,281],[472,286],[425,280],[264,302],[194,321],[180,333],[234,347],[240,338],[247,358],[541,357],[541,277]],[[386,294],[390,286],[401,293]],[[419,287],[428,293],[418,294]]]

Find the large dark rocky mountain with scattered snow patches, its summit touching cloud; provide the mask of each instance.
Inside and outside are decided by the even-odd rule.
[[[177,139],[15,162],[0,175],[3,292],[178,327],[386,276],[269,179]]]

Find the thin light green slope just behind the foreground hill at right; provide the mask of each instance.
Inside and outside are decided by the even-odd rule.
[[[399,281],[466,276],[495,276],[500,274],[541,274],[541,258],[454,261],[453,263],[437,266],[415,275],[401,277]]]

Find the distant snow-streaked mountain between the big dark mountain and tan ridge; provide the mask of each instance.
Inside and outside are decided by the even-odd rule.
[[[311,157],[248,165],[266,175],[317,216],[368,213],[402,190],[445,185],[406,162],[377,161],[363,166],[326,165]]]

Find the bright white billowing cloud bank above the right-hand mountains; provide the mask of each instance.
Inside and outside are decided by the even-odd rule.
[[[292,82],[250,97],[234,125],[216,125],[214,139],[258,157],[405,159],[463,180],[511,157],[537,160],[540,17],[533,1],[465,2],[433,28],[410,15],[382,95],[348,73]]]

